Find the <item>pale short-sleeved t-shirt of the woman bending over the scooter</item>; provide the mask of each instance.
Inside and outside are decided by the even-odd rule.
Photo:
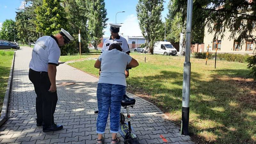
[[[99,83],[120,84],[126,86],[124,70],[132,57],[117,49],[101,53],[98,60],[101,61]]]

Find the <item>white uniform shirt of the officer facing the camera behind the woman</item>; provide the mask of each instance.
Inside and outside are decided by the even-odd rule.
[[[112,37],[110,36],[109,39],[106,39],[104,41],[104,44],[102,46],[102,50],[101,52],[105,52],[108,51],[108,48],[111,44],[119,44],[121,46],[121,48],[123,49],[123,52],[128,52],[130,53],[130,48],[128,46],[127,40],[122,37],[122,36],[117,36],[115,39],[112,39]]]

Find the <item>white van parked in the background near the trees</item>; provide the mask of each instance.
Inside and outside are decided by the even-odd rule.
[[[157,41],[154,44],[154,54],[176,55],[177,50],[170,42]]]

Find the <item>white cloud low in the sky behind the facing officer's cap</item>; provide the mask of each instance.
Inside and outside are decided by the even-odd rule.
[[[114,22],[108,22],[114,23]],[[124,20],[124,24],[121,24],[119,34],[123,33],[123,36],[142,36],[139,21],[134,14],[128,15]],[[103,37],[110,36],[109,25],[103,30],[105,32]]]

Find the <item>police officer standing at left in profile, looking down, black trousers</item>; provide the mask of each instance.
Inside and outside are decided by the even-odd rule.
[[[55,36],[37,39],[29,63],[29,80],[36,92],[36,125],[43,125],[43,132],[58,131],[62,125],[54,124],[53,113],[57,104],[56,66],[59,65],[60,47],[73,37],[63,28]]]

